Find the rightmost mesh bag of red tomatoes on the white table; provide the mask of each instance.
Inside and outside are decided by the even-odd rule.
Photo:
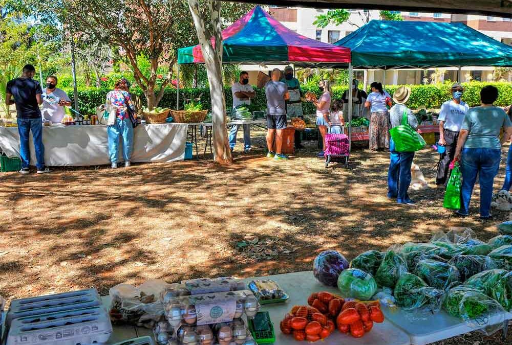
[[[382,323],[384,314],[380,310],[380,303],[362,303],[347,301],[336,316],[336,328],[342,333],[350,333],[354,338],[360,338],[370,332],[373,323]]]

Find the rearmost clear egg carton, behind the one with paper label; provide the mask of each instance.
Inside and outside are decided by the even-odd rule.
[[[247,285],[236,278],[200,278],[185,280],[181,284],[170,284],[166,289],[166,293],[172,293],[175,296],[188,296],[214,292],[242,291],[246,289]]]

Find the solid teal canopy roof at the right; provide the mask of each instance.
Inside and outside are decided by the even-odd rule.
[[[512,66],[512,47],[460,22],[372,20],[334,44],[356,68]]]

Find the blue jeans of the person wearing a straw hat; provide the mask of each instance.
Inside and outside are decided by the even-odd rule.
[[[396,198],[397,202],[408,202],[410,198],[407,191],[411,185],[414,152],[395,151],[393,139],[389,142],[389,151],[388,197]]]

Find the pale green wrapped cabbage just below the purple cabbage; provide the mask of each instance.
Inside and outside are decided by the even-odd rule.
[[[370,273],[349,268],[339,274],[338,289],[343,297],[368,301],[375,294],[377,283]]]

